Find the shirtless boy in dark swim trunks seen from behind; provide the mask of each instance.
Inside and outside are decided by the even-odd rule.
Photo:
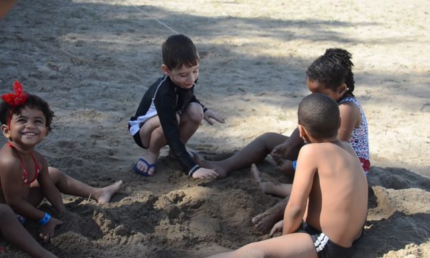
[[[350,144],[337,139],[340,118],[333,98],[321,93],[305,97],[298,124],[309,144],[298,154],[284,220],[270,233],[283,235],[211,257],[350,257],[366,222],[363,167]]]

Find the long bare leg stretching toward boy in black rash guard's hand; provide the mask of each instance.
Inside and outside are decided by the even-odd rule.
[[[244,169],[252,163],[263,161],[267,154],[272,152],[273,148],[287,139],[288,137],[283,134],[266,132],[223,161],[206,161],[198,155],[195,155],[195,159],[201,167],[215,169],[219,174],[219,178],[225,178],[232,171]]]

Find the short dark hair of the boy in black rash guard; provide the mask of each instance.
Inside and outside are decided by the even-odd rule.
[[[163,64],[170,70],[179,69],[182,65],[193,67],[200,62],[193,40],[182,34],[169,36],[163,43],[162,52]]]

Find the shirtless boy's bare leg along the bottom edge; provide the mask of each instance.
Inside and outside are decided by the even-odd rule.
[[[312,238],[307,233],[281,235],[261,242],[247,244],[228,253],[219,253],[209,258],[262,258],[298,257],[316,258],[317,251]]]

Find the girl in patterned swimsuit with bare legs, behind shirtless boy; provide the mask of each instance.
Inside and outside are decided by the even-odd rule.
[[[355,99],[353,62],[351,54],[345,49],[327,49],[324,55],[317,58],[307,69],[307,87],[312,93],[323,93],[333,98],[339,105],[341,124],[337,131],[337,138],[348,141],[352,146],[363,166],[364,172],[370,169],[368,124],[361,105]],[[202,167],[215,169],[220,177],[228,173],[243,169],[263,161],[267,154],[271,154],[279,164],[279,169],[287,175],[294,174],[298,152],[304,142],[299,137],[298,129],[294,130],[290,137],[275,132],[266,132],[257,137],[235,155],[223,161],[206,161],[195,155],[198,164]],[[255,181],[259,181],[258,170],[252,167]],[[261,184],[265,193],[285,197],[291,191],[291,185]],[[287,205],[285,199],[268,211],[252,218],[252,223],[259,231],[267,232],[272,226],[282,219],[283,211]]]

